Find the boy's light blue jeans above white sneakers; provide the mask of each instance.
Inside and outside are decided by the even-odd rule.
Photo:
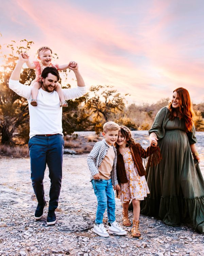
[[[94,193],[97,197],[98,206],[96,211],[96,224],[103,223],[103,214],[107,208],[108,222],[113,223],[115,217],[115,196],[113,185],[110,180],[91,180]]]

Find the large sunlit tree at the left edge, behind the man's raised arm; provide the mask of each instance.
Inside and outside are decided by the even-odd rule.
[[[1,66],[3,70],[0,71],[0,133],[2,144],[14,143],[13,137],[16,129],[21,128],[22,133],[24,130],[28,130],[26,129],[29,118],[28,102],[8,87],[8,80],[16,65],[19,53],[28,51],[32,44],[32,41],[29,42],[26,39],[21,40],[19,45],[12,41],[11,44],[7,45],[11,52],[0,56],[4,59],[4,65]],[[34,70],[23,69],[20,83],[29,84],[34,76]]]

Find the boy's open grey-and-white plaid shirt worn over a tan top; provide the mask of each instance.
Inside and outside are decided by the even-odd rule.
[[[97,142],[91,152],[89,153],[87,157],[87,163],[88,163],[88,168],[91,172],[91,180],[93,179],[93,176],[99,173],[98,168],[100,167],[103,159],[105,158],[109,145],[103,139],[102,141]],[[116,148],[113,146],[114,152],[115,152],[115,158],[114,158],[114,163],[113,163],[113,169],[111,171],[111,179],[112,179],[112,184],[117,185],[118,180],[117,180],[117,173],[116,173],[116,163],[117,163],[117,151]]]

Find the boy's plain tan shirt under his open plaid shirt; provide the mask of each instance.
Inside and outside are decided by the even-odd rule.
[[[104,157],[99,167],[99,173],[100,173],[101,179],[104,179],[104,180],[111,179],[111,171],[113,169],[114,158],[115,158],[114,148],[109,147],[107,154]]]

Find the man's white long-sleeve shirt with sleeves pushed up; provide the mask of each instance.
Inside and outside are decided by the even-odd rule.
[[[31,86],[19,83],[16,80],[9,80],[9,87],[18,95],[28,100],[30,114],[30,138],[36,134],[55,134],[62,132],[62,107],[60,106],[60,98],[54,90],[52,93],[44,91],[42,88],[38,90],[37,106],[32,106],[31,102]],[[85,92],[85,87],[62,89],[65,99],[70,100],[81,97]]]

